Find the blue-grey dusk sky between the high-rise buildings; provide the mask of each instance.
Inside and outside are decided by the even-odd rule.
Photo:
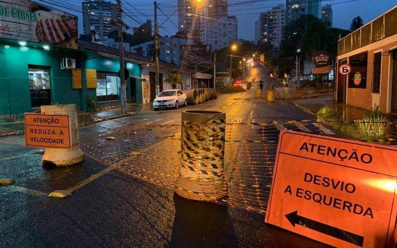
[[[49,2],[53,3],[51,6],[71,14],[78,16],[79,22],[79,33],[83,32],[82,29],[82,14],[81,2],[82,0],[43,0],[41,2],[45,5],[50,5]],[[112,0],[116,2],[116,0]],[[177,8],[177,0],[157,0],[161,10],[168,16],[174,12]],[[246,4],[240,4],[233,6],[234,3],[249,2]],[[128,4],[129,3],[129,4]],[[229,0],[229,15],[236,15],[238,19],[238,34],[239,38],[246,40],[254,40],[255,37],[255,21],[258,19],[259,13],[264,12],[276,6],[279,3],[284,3],[285,0]],[[332,4],[333,9],[333,27],[349,29],[349,25],[353,17],[361,16],[364,23],[367,23],[382,13],[386,12],[390,8],[397,5],[396,0],[323,0],[322,5],[326,3]],[[74,11],[71,9],[66,9],[57,5],[67,6],[71,9],[76,9]],[[153,1],[149,0],[122,0],[123,9],[127,14],[134,17],[132,20],[129,17],[125,18],[125,21],[131,27],[139,26],[137,22],[144,22],[147,18],[153,19]],[[133,7],[132,7],[133,6]],[[135,8],[135,9],[134,9]],[[139,11],[139,12],[138,12]],[[165,19],[165,15],[158,11],[159,24],[161,24]],[[178,18],[177,13],[175,13],[170,20],[164,24],[164,28],[160,29],[161,35],[172,35],[177,31]]]

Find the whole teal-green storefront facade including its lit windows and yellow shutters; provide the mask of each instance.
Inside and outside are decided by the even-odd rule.
[[[32,42],[20,45],[17,40],[0,39],[0,115],[32,112],[41,105],[56,103],[74,103],[78,110],[87,111],[89,96],[95,96],[97,107],[120,105],[117,53],[117,49],[89,42],[79,41],[79,49],[66,49]],[[64,58],[75,60],[76,69],[61,68]],[[134,99],[141,103],[142,86],[134,82],[131,89],[130,81],[141,77],[140,66],[145,62],[125,61],[130,72],[127,79],[130,102]],[[76,70],[81,73],[78,87],[73,82]],[[88,71],[95,76],[91,77],[90,87]]]

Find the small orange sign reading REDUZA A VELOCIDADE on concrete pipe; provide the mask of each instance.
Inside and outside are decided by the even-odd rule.
[[[25,143],[27,146],[71,148],[68,115],[25,113]]]

